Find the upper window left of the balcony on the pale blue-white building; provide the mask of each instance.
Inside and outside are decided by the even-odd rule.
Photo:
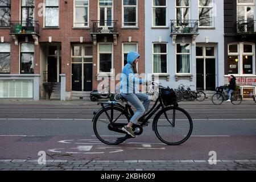
[[[152,0],[153,1],[153,26],[167,26],[167,2],[166,0]]]

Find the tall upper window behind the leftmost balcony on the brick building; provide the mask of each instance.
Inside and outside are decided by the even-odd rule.
[[[22,9],[22,21],[26,21],[27,23],[34,21],[34,18],[35,18],[34,0],[22,0],[21,9]]]

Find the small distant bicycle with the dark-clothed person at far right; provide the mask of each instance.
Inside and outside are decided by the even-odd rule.
[[[224,86],[218,86],[216,88],[216,93],[212,96],[212,102],[214,105],[221,105],[224,99],[228,99],[228,93],[224,90]],[[233,105],[239,105],[242,102],[242,96],[240,93],[234,91],[231,94],[231,102]]]

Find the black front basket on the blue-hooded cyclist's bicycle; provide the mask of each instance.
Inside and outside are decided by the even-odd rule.
[[[159,88],[160,96],[163,100],[163,104],[166,106],[174,105],[177,101],[177,96],[174,92],[174,89],[171,88]]]

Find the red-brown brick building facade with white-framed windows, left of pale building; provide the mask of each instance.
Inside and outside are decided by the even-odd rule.
[[[85,97],[131,50],[144,73],[144,1],[5,0],[0,13],[0,98]]]

